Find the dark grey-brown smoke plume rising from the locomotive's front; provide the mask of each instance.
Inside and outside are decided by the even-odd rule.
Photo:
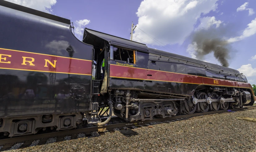
[[[217,59],[222,66],[228,67],[231,46],[227,40],[223,39],[224,33],[220,29],[216,31],[215,28],[207,31],[195,31],[192,35],[192,43],[189,44],[187,52],[190,53],[192,58],[198,60],[210,60],[205,59],[205,55],[213,52],[215,59]]]

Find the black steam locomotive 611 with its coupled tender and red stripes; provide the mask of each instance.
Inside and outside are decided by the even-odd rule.
[[[70,20],[6,1],[0,1],[0,20],[5,136],[106,125],[112,113],[132,122],[255,101],[246,77],[231,68],[87,28],[80,41]]]

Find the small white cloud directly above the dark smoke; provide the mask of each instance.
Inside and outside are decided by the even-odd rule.
[[[222,22],[220,20],[216,20],[214,16],[212,17],[203,17],[200,18],[200,25],[198,25],[197,29],[206,29],[208,30],[211,26],[216,25],[216,28],[220,26]]]

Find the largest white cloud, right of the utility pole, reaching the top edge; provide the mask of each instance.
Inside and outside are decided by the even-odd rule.
[[[194,30],[200,15],[216,10],[216,1],[144,0],[136,12],[139,17],[137,27],[164,44],[182,44]],[[136,31],[141,37],[137,37],[138,42],[159,45],[141,30]]]

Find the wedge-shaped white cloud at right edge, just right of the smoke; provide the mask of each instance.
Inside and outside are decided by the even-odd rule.
[[[251,35],[254,35],[255,33],[256,33],[256,18],[254,20],[252,20],[251,23],[249,23],[247,25],[247,28],[243,31],[243,34],[241,36],[230,38],[230,39],[228,39],[228,42],[233,43],[236,41],[240,41],[240,40],[245,39]]]

